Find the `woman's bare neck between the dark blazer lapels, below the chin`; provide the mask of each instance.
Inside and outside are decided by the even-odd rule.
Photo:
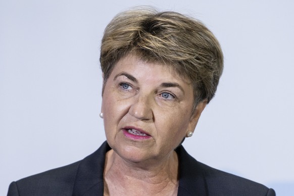
[[[104,178],[106,190],[113,195],[114,188],[125,195],[176,195],[178,157],[173,151],[162,160],[132,163],[111,150],[106,155]]]

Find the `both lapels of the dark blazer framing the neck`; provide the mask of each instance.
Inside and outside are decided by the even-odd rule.
[[[105,154],[111,150],[107,141],[93,154],[84,158],[78,168],[73,188],[74,196],[101,195],[104,191],[104,164]],[[179,188],[178,196],[208,195],[204,172],[199,162],[192,158],[183,148],[178,146],[175,150],[179,157]]]

